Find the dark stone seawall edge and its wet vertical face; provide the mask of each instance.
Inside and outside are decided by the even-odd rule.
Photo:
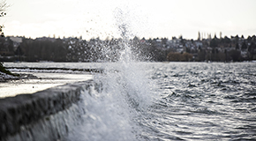
[[[0,99],[0,140],[58,140],[79,124],[80,94],[93,80]]]

